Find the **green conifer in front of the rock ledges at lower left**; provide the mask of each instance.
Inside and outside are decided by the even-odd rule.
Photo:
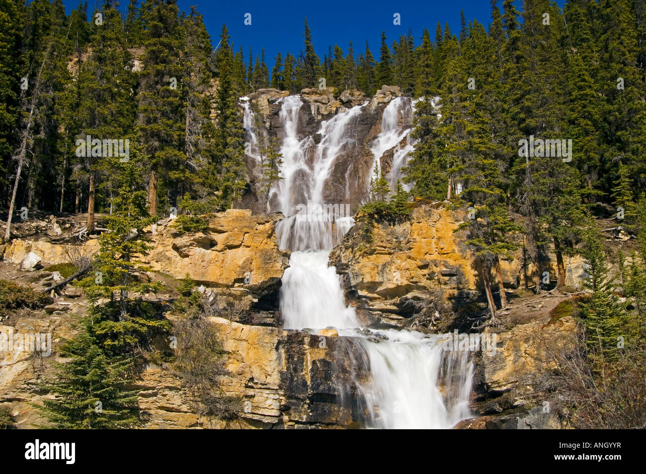
[[[67,363],[55,364],[56,373],[41,387],[54,395],[41,409],[50,426],[57,428],[132,427],[140,420],[134,379],[141,350],[164,336],[170,323],[141,295],[160,285],[145,277],[140,263],[149,250],[143,228],[154,222],[146,208],[134,159],[121,164],[121,187],[114,199],[115,211],[107,218],[109,232],[99,237],[99,252],[89,277],[83,279],[90,300],[87,317],[81,319],[79,334],[61,348]]]

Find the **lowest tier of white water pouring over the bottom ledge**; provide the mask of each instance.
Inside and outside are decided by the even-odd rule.
[[[368,355],[371,383],[359,390],[371,427],[450,428],[468,418],[473,365],[468,352],[444,350],[445,336],[373,330],[371,336],[384,337],[373,341],[339,334],[359,338]]]

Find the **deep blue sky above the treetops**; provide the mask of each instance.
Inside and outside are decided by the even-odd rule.
[[[78,0],[63,0],[65,10],[69,13],[78,5]],[[97,5],[103,1],[98,0]],[[499,0],[502,8],[502,0]],[[563,5],[563,0],[558,0]],[[88,2],[90,14],[94,3]],[[128,0],[121,0],[121,11],[127,8]],[[520,10],[522,2],[517,0]],[[390,46],[393,39],[412,30],[415,45],[421,43],[423,28],[428,28],[431,39],[435,38],[435,25],[439,21],[444,28],[448,23],[451,32],[459,34],[460,10],[464,10],[467,23],[477,19],[488,27],[490,21],[490,0],[302,0],[302,1],[258,1],[258,0],[225,0],[200,1],[178,0],[180,10],[189,11],[189,6],[197,5],[204,17],[204,23],[211,34],[213,47],[220,41],[222,23],[226,23],[234,43],[234,50],[243,47],[245,61],[248,59],[249,47],[253,56],[266,50],[266,63],[271,70],[276,53],[280,51],[283,58],[287,51],[294,56],[303,47],[304,18],[312,32],[312,39],[320,59],[328,52],[328,45],[334,48],[337,44],[348,51],[349,41],[353,42],[355,53],[364,51],[366,40],[370,50],[379,59],[381,32],[386,32],[386,41]],[[244,25],[244,16],[251,14],[251,26]],[[393,25],[393,14],[401,14],[401,26]]]

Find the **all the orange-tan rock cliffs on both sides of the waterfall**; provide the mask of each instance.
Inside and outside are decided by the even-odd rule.
[[[406,327],[424,301],[439,290],[443,302],[459,313],[481,295],[481,276],[473,255],[464,246],[464,235],[454,232],[464,219],[461,211],[443,204],[415,208],[410,222],[390,226],[375,224],[373,242],[363,240],[362,220],[331,252],[346,288],[346,299],[360,318],[373,327]],[[334,331],[308,334],[280,329],[277,296],[287,268],[289,252],[278,249],[275,224],[282,215],[251,215],[230,210],[209,220],[202,232],[178,233],[171,221],[162,221],[150,235],[154,248],[147,260],[152,274],[181,278],[191,275],[205,286],[225,284],[245,294],[250,321],[241,324],[213,318],[228,353],[229,375],[224,390],[245,402],[238,427],[360,427],[366,420],[364,400],[357,383],[370,382],[370,367],[362,349]],[[90,241],[84,252],[96,252]],[[16,240],[5,252],[5,265],[21,273],[29,254],[43,264],[63,263],[68,250],[46,239]],[[568,284],[579,268],[568,261]],[[503,264],[505,286],[517,288],[523,272],[521,255]],[[25,275],[28,273],[25,272]],[[245,280],[246,279],[246,280]],[[52,332],[52,355],[34,359],[32,354],[0,353],[0,404],[10,407],[17,426],[30,427],[39,420],[31,404],[43,394],[38,377],[50,373],[50,362],[59,360],[61,338],[74,334],[73,323],[87,312],[79,292],[66,290],[47,311],[28,312],[0,327],[2,332]],[[495,290],[495,288],[494,288]],[[560,427],[543,413],[550,402],[541,380],[554,354],[571,350],[574,322],[552,321],[548,310],[561,299],[510,303],[506,327],[497,330],[494,354],[475,354],[473,420],[460,427]],[[163,301],[164,296],[161,296]],[[264,307],[264,308],[261,308]],[[537,312],[534,312],[537,311]],[[459,321],[444,320],[417,329],[441,332],[459,328]],[[170,367],[149,363],[136,383],[140,406],[149,414],[147,427],[225,427],[194,413],[189,398]]]

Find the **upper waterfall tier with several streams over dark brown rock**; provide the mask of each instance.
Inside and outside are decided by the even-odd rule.
[[[375,160],[393,188],[401,177],[413,149],[414,103],[396,87],[384,87],[370,101],[359,93],[337,100],[329,89],[304,92],[267,89],[244,98],[247,165],[252,181],[259,181],[262,144],[278,137],[281,179],[268,202],[256,203],[258,211],[287,216],[276,229],[282,248],[330,250],[368,199]]]

